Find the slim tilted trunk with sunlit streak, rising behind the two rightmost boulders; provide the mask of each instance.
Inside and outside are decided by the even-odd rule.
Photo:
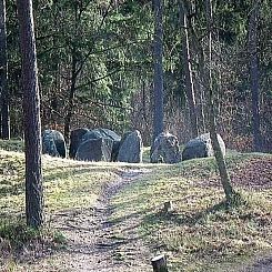
[[[185,72],[185,91],[189,104],[190,112],[190,124],[192,138],[199,135],[199,124],[198,124],[198,114],[195,107],[195,95],[194,95],[194,85],[192,78],[192,67],[191,67],[191,57],[190,57],[190,44],[188,37],[188,26],[187,26],[187,9],[184,8],[183,0],[180,0],[180,17],[183,32],[183,44],[182,44],[182,54],[184,61],[184,72]]]

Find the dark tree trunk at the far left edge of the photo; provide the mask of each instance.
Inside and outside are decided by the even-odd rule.
[[[1,97],[1,138],[10,139],[6,0],[0,0],[0,97]]]

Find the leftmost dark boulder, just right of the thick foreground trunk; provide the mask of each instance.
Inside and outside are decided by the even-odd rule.
[[[64,137],[57,130],[44,130],[42,133],[42,153],[52,157],[67,157]]]

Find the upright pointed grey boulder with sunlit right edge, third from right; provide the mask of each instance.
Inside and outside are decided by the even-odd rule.
[[[125,133],[121,140],[118,161],[138,163],[142,162],[143,143],[140,131]]]

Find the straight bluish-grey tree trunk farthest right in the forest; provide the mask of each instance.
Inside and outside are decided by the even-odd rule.
[[[259,1],[254,4],[249,22],[250,78],[252,95],[252,132],[254,151],[262,151],[259,110],[259,68],[258,68],[258,14]]]

